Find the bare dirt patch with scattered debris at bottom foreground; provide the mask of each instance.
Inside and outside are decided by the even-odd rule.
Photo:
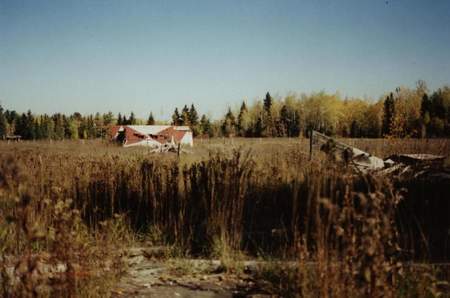
[[[276,297],[254,280],[250,269],[233,273],[218,260],[164,260],[152,255],[148,248],[128,250],[127,270],[113,297]]]

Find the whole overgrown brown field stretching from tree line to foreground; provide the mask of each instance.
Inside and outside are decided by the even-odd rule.
[[[450,152],[448,139],[341,141],[383,158]],[[0,293],[133,295],[111,291],[133,270],[127,252],[163,247],[146,262],[162,262],[169,281],[199,283],[211,270],[186,262],[218,260],[212,271],[231,291],[218,297],[242,276],[244,296],[448,295],[448,267],[417,265],[450,260],[442,183],[355,173],[317,148],[309,160],[307,139],[196,140],[187,150],[1,142]]]

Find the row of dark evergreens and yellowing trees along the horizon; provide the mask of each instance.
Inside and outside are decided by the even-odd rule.
[[[342,137],[450,137],[450,87],[429,92],[425,82],[396,88],[378,101],[342,98],[316,92],[273,98],[269,92],[252,104],[228,108],[222,119],[199,116],[194,104],[175,108],[171,122],[137,119],[119,113],[81,115],[19,114],[0,106],[0,136],[23,139],[90,139],[105,137],[112,125],[172,124],[190,126],[202,137],[299,137],[314,129]]]

